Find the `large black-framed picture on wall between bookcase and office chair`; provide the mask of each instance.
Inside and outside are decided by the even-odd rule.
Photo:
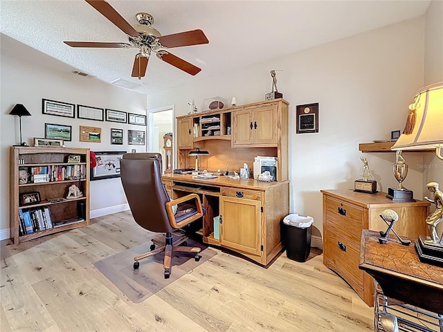
[[[120,159],[126,151],[95,152],[97,166],[91,169],[91,181],[120,177]]]

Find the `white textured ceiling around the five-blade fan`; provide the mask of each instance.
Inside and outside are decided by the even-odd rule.
[[[152,57],[146,76],[138,80],[131,77],[136,48],[67,46],[63,41],[127,42],[123,31],[83,0],[0,0],[0,31],[71,70],[105,82],[135,82],[141,85],[134,91],[149,94],[417,17],[430,1],[108,2],[129,24],[136,23],[137,12],[150,13],[162,35],[204,30],[209,44],[170,49],[202,71],[191,76]],[[12,53],[1,46],[2,53]]]

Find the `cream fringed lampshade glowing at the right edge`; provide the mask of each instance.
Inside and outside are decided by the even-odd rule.
[[[392,150],[436,149],[443,160],[443,82],[420,89],[410,104],[403,133]]]

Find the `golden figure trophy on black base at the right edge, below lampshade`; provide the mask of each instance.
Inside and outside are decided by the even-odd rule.
[[[434,199],[429,199],[428,196],[424,196],[424,199],[435,204],[435,209],[426,217],[425,221],[430,236],[419,235],[418,241],[415,242],[415,250],[420,261],[443,266],[443,234],[439,238],[436,230],[437,225],[443,221],[443,193],[438,190],[436,182],[430,182],[426,187],[430,192],[433,192]]]

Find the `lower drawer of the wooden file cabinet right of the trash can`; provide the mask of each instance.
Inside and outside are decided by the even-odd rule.
[[[363,271],[359,269],[360,248],[330,230],[326,230],[325,242],[326,258],[345,275],[336,272],[363,288]]]

